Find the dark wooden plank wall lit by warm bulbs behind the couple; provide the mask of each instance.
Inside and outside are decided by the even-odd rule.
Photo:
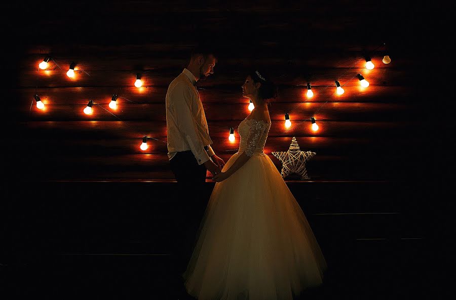
[[[26,18],[39,8],[24,9],[27,30],[17,46],[11,79],[14,134],[9,143],[14,153],[9,163],[23,170],[19,177],[172,180],[165,95],[188,62],[195,32],[212,37],[220,49],[214,75],[198,89],[213,148],[225,161],[239,143],[239,136],[235,143],[228,141],[228,130],[235,127],[237,134],[239,122],[249,113],[240,86],[249,70],[260,69],[279,85],[264,149],[279,170],[281,163],[271,152],[286,151],[292,137],[301,150],[317,153],[308,164],[312,179],[397,179],[419,169],[419,154],[412,149],[423,138],[424,124],[417,116],[425,108],[416,101],[415,57],[402,52],[399,35],[389,36],[391,64],[382,63],[386,48],[377,48],[391,29],[382,20],[400,19],[392,10],[368,17],[381,7],[353,5],[340,16],[315,6],[304,18],[305,11],[296,6],[178,9],[141,3],[144,9],[139,10],[132,5],[95,5],[81,15],[75,4],[65,16],[57,13],[64,7],[54,6],[52,17],[33,22]],[[101,11],[104,14],[97,15]],[[120,15],[122,24],[113,22]],[[79,16],[78,25],[68,26],[68,16]],[[372,56],[373,70],[363,69],[365,53]],[[47,54],[54,61],[38,71]],[[71,62],[85,72],[67,77]],[[367,89],[360,88],[355,77],[361,70],[370,82]],[[139,89],[134,87],[136,72],[143,73]],[[334,95],[335,79],[345,84],[344,95]],[[308,81],[315,93],[311,99],[305,96]],[[35,107],[35,93],[45,103],[44,110]],[[112,94],[120,96],[115,111],[108,107]],[[96,103],[94,112],[85,115],[89,100]],[[289,130],[284,127],[285,112],[293,123]],[[320,126],[316,133],[305,121],[310,116]],[[144,152],[139,149],[143,135],[158,140],[149,141]]]

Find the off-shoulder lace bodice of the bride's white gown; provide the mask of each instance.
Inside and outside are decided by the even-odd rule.
[[[238,133],[241,136],[239,152],[244,151],[248,156],[261,154],[270,128],[271,123],[262,120],[244,119],[238,126]]]

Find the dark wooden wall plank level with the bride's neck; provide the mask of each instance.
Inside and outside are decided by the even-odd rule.
[[[134,104],[119,100],[118,107],[109,108],[109,99],[103,99],[99,106],[93,106],[96,112],[91,116],[92,120],[113,121],[121,118],[125,121],[166,121],[165,105],[161,104]],[[100,101],[101,102],[101,101]],[[49,102],[48,102],[49,103]],[[96,103],[99,103],[98,101]],[[291,120],[305,120],[313,116],[316,120],[338,121],[382,121],[382,120],[413,120],[411,108],[406,104],[392,103],[274,103],[270,111],[272,121],[278,123],[284,121],[284,113],[288,112]],[[84,104],[47,104],[46,111],[33,108],[33,113],[28,115],[30,106],[19,107],[18,114],[24,120],[43,121],[75,121],[80,120],[84,114]],[[247,104],[209,103],[204,105],[206,118],[211,121],[239,120],[250,114]],[[319,110],[319,108],[321,109]],[[104,108],[104,109],[103,109]],[[412,108],[416,109],[416,107]],[[318,111],[317,114],[314,112]],[[113,115],[114,114],[114,115]],[[117,117],[116,117],[117,116]]]

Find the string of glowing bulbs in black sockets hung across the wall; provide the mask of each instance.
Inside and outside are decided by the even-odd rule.
[[[385,45],[385,44],[383,44],[383,45]],[[381,46],[379,46],[379,47],[381,47]],[[373,50],[373,52],[376,51],[379,47],[377,47],[375,50]],[[370,57],[367,57],[367,56],[365,56],[364,58],[366,59],[366,66],[365,66],[365,68],[367,68],[367,69],[372,69],[372,68],[374,67],[374,65],[373,65],[373,63],[372,63],[372,61],[371,61],[371,58],[370,58]],[[38,80],[39,80],[39,71],[40,71],[40,69],[46,69],[47,66],[48,66],[48,62],[49,62],[49,60],[51,60],[51,59],[52,59],[52,61],[55,62],[55,60],[54,60],[53,58],[51,58],[51,56],[46,56],[45,59],[43,60],[43,62],[40,63],[39,69],[38,69],[38,72],[37,72],[37,82],[38,82]],[[358,62],[358,61],[357,61],[357,62]],[[357,64],[357,62],[355,63],[355,65]],[[384,62],[385,64],[389,64],[389,63],[391,62],[391,59],[389,58],[388,55],[385,55],[385,56],[384,56],[383,62]],[[55,62],[55,64],[60,68],[60,66],[59,66],[56,62]],[[68,77],[74,76],[74,67],[75,67],[75,63],[73,62],[73,63],[71,63],[71,65],[70,65],[68,71],[66,72],[66,74],[67,74]],[[354,67],[354,66],[350,67],[349,70],[352,69],[353,67]],[[62,70],[62,68],[60,68],[60,70]],[[345,73],[347,73],[349,70],[347,70]],[[63,71],[63,70],[62,70],[62,71]],[[84,70],[82,70],[82,71],[84,71]],[[361,71],[362,71],[362,70],[361,70]],[[148,71],[145,71],[145,72],[148,72]],[[145,73],[145,72],[144,72],[144,73]],[[87,72],[84,71],[84,73],[86,73],[87,75],[90,76],[90,74],[88,74]],[[344,73],[343,75],[345,75],[345,73]],[[72,76],[70,76],[70,75],[72,75]],[[342,77],[343,75],[341,75],[340,77]],[[361,75],[360,72],[359,72],[357,75],[355,75],[354,77],[358,77],[358,79],[359,79],[359,81],[360,81],[360,84],[361,84],[363,87],[364,87],[364,85],[365,85],[365,87],[368,87],[369,82],[368,82],[367,80],[364,79],[364,77]],[[354,77],[353,77],[353,78],[354,78]],[[353,78],[352,78],[352,79],[353,79]],[[352,80],[352,79],[350,79],[350,80]],[[350,81],[350,80],[349,80],[349,81]],[[349,81],[347,81],[347,83],[348,83]],[[335,80],[334,82],[335,82],[335,85],[336,85],[336,92],[335,92],[334,94],[336,94],[336,93],[337,93],[338,95],[344,94],[344,89],[342,88],[343,85],[340,85],[340,83],[339,83],[338,80]],[[345,83],[345,84],[347,84],[347,83]],[[140,73],[136,73],[135,87],[140,88],[140,87],[142,87],[142,84],[143,84],[143,81],[141,80],[141,74],[140,74]],[[345,84],[344,84],[344,85],[345,85]],[[329,84],[326,85],[326,87],[325,87],[324,89],[326,89],[327,87],[329,87]],[[79,88],[79,87],[78,87],[78,88]],[[81,88],[79,88],[79,89],[82,91]],[[308,90],[307,90],[307,96],[308,96],[308,98],[312,98],[312,96],[314,95],[314,93],[313,93],[313,91],[312,91],[312,87],[311,87],[310,82],[307,83],[307,89],[308,89]],[[324,90],[324,89],[323,89],[323,90]],[[37,90],[38,90],[38,84],[37,84],[37,86],[36,86],[36,91],[37,91]],[[323,90],[321,90],[321,91],[323,91]],[[333,94],[333,95],[334,95],[334,94]],[[36,96],[36,97],[35,97],[35,96]],[[35,98],[35,101],[36,101],[36,107],[39,108],[39,109],[43,109],[43,108],[44,108],[43,102],[41,101],[41,99],[39,98],[39,96],[38,96],[37,94],[36,94],[35,96],[34,96],[34,98]],[[116,101],[117,101],[117,98],[118,98],[118,97],[123,98],[123,99],[126,99],[127,101],[130,101],[130,100],[128,100],[128,99],[125,98],[125,97],[118,96],[117,94],[114,94],[114,95],[112,96],[112,98],[111,98],[111,102],[109,103],[109,107],[110,107],[111,109],[116,109],[116,108],[117,108],[117,102],[116,102]],[[40,99],[40,100],[37,100],[37,99]],[[328,99],[328,100],[329,100],[329,99]],[[324,103],[319,107],[319,109],[317,110],[316,113],[318,113],[318,111],[322,108],[322,106],[323,106],[324,104],[326,104],[326,103],[328,102],[328,100],[327,100],[326,102],[324,102]],[[33,101],[33,100],[32,100],[32,101]],[[133,101],[130,101],[130,102],[133,102]],[[136,102],[133,102],[133,103],[136,103]],[[91,114],[91,113],[92,113],[92,106],[93,106],[93,104],[94,104],[94,102],[93,102],[92,100],[90,100],[89,103],[88,103],[88,105],[87,105],[87,107],[84,109],[84,112],[85,112],[86,114]],[[98,103],[95,103],[95,104],[97,104],[98,106],[100,106]],[[303,104],[303,102],[300,103],[299,106],[300,106],[301,104]],[[100,107],[103,108],[102,106],[100,106]],[[252,102],[251,100],[249,101],[249,107],[248,107],[248,108],[249,108],[250,111],[252,111],[252,110],[254,109],[254,105],[253,105],[253,102]],[[105,108],[103,108],[103,109],[105,109]],[[106,109],[105,109],[105,110],[106,110]],[[31,108],[30,108],[30,111],[31,111]],[[108,110],[106,110],[106,111],[108,111]],[[110,111],[108,111],[108,112],[111,113],[111,114],[112,114],[113,116],[115,116],[116,118],[118,118],[118,119],[119,119],[120,121],[122,121],[123,123],[129,125],[128,123],[126,123],[125,121],[123,121],[122,119],[120,119],[118,116],[116,116],[115,114],[113,114],[112,112],[110,112]],[[315,114],[316,114],[316,113],[315,113]],[[318,125],[317,125],[317,123],[316,123],[314,117],[311,117],[310,119],[303,120],[302,122],[304,122],[304,121],[309,121],[309,120],[310,120],[311,123],[312,123],[312,130],[313,130],[313,131],[317,131],[317,130],[318,130]],[[295,124],[295,126],[301,124],[302,122],[299,122],[299,123]],[[129,126],[130,126],[130,125],[129,125]],[[215,126],[215,127],[219,127],[219,126],[221,127],[221,125],[214,125],[214,126]],[[285,126],[286,126],[286,128],[290,128],[290,127],[291,127],[291,121],[290,121],[289,112],[285,113]],[[226,128],[226,127],[225,127],[225,128]],[[163,142],[163,143],[167,143],[166,141],[162,141],[162,140],[159,140],[159,139],[156,139],[156,138],[153,138],[153,137],[147,137],[146,135],[143,135],[143,139],[142,139],[143,142],[142,142],[142,144],[141,144],[141,146],[140,146],[140,149],[143,150],[143,151],[146,150],[146,149],[148,148],[148,146],[147,146],[147,139],[154,139],[154,140],[156,140],[156,141],[160,141],[160,142]],[[230,142],[234,142],[234,141],[235,141],[235,137],[234,137],[234,128],[233,128],[233,127],[230,127],[230,136],[229,136],[229,140],[230,140]],[[144,148],[144,149],[143,149],[143,148]],[[225,151],[223,151],[223,152],[231,152],[231,151],[237,151],[237,150],[238,150],[238,149],[232,149],[232,150],[225,150]]]

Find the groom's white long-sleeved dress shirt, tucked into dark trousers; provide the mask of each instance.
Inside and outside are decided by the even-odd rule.
[[[187,69],[169,84],[166,93],[168,157],[171,160],[177,152],[191,150],[198,164],[203,164],[214,151],[195,84],[195,76]]]

